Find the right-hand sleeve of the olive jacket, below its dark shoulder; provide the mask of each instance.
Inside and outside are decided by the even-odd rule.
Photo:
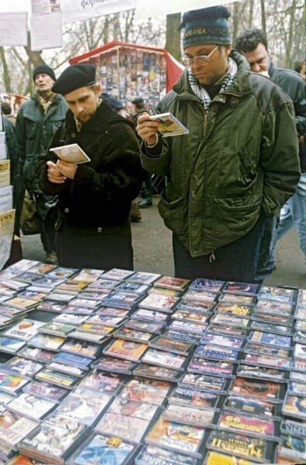
[[[264,171],[262,209],[277,217],[294,194],[301,174],[292,103],[283,103],[265,115],[260,164]]]

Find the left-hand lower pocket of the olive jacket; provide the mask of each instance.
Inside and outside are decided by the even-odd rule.
[[[158,211],[167,228],[177,235],[183,234],[183,197],[168,202],[163,192],[158,203]]]

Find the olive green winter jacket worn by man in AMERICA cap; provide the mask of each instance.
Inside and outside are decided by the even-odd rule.
[[[142,145],[143,167],[168,176],[160,215],[192,257],[244,236],[261,211],[278,216],[300,177],[290,98],[271,79],[251,73],[240,53],[231,57],[237,75],[207,115],[186,71],[157,108],[173,113],[188,135],[159,136],[159,155]]]

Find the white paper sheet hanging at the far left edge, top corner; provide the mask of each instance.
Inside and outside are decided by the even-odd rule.
[[[27,21],[27,12],[0,13],[0,46],[27,45]]]

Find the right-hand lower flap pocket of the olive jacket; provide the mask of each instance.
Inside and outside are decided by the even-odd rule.
[[[217,222],[233,231],[249,229],[260,214],[261,197],[260,199],[258,196],[254,197],[214,199],[214,213]]]

